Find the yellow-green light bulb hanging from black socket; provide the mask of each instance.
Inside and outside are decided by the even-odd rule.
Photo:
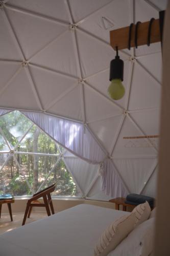
[[[122,99],[125,94],[125,88],[121,79],[113,79],[108,88],[108,94],[112,99]]]

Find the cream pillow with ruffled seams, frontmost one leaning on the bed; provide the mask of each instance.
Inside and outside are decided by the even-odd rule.
[[[125,215],[115,220],[105,229],[94,248],[94,255],[106,256],[135,226],[135,214]]]

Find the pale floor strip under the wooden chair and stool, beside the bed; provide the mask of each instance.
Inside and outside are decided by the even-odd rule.
[[[0,219],[0,234],[20,227],[22,225],[23,215],[24,212],[17,212],[16,214],[13,213],[13,221],[11,221],[9,214],[2,214]],[[46,216],[46,212],[32,212],[31,218],[27,219],[26,224],[42,219]]]

